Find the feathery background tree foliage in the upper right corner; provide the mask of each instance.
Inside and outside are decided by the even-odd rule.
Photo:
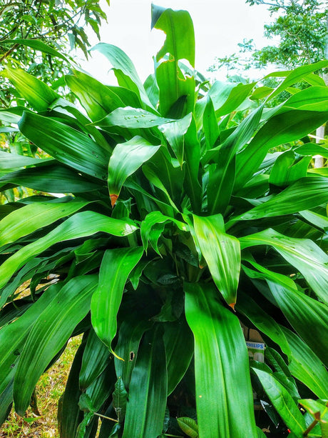
[[[265,24],[265,36],[277,43],[256,49],[252,39],[244,39],[238,54],[217,58],[211,71],[226,66],[236,69],[262,68],[268,64],[293,69],[327,58],[328,13],[318,0],[246,0],[250,6],[268,6],[273,21]]]

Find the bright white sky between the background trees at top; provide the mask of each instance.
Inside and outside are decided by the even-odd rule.
[[[254,39],[260,49],[267,44],[263,26],[269,23],[270,14],[265,6],[250,6],[245,0],[155,0],[155,4],[172,9],[186,9],[193,19],[196,41],[195,68],[208,76],[206,69],[215,56],[226,56],[238,51],[242,39]],[[102,1],[108,24],[101,26],[101,41],[119,46],[130,57],[141,80],[153,73],[152,56],[163,44],[163,32],[150,32],[151,0],[111,0],[111,7]],[[88,31],[91,41],[98,40]],[[97,79],[114,84],[109,61],[96,51],[92,59],[83,62],[83,69]],[[225,72],[222,71],[222,76]],[[220,76],[217,75],[217,76]]]

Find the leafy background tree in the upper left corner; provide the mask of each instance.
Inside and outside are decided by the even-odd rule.
[[[109,0],[107,0],[109,5]],[[41,76],[53,88],[54,83],[68,72],[65,56],[44,53],[41,43],[68,54],[69,48],[80,48],[86,58],[90,43],[85,28],[89,26],[100,39],[99,26],[106,13],[98,0],[4,0],[0,6],[0,61],[1,64],[23,66],[29,73]],[[12,88],[0,79],[1,103],[8,106]]]

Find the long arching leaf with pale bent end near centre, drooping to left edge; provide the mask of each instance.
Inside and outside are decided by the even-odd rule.
[[[48,247],[51,247],[53,244],[91,236],[98,232],[123,237],[135,232],[136,229],[137,227],[131,223],[119,219],[112,219],[103,214],[94,213],[93,211],[76,213],[63,222],[63,224],[58,225],[58,227],[46,234],[46,236],[19,249],[19,251],[9,257],[9,259],[6,259],[0,266],[0,287],[4,287],[14,272],[24,266],[28,260]]]

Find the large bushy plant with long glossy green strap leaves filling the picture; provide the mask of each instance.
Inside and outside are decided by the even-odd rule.
[[[104,43],[118,84],[72,71],[78,105],[6,67],[26,104],[0,119],[44,158],[0,153],[1,191],[34,190],[0,206],[1,422],[83,334],[61,438],[327,437],[328,175],[311,161],[328,147],[308,134],[328,61],[277,89],[209,84],[188,12],[152,12],[166,39],[144,84]]]

